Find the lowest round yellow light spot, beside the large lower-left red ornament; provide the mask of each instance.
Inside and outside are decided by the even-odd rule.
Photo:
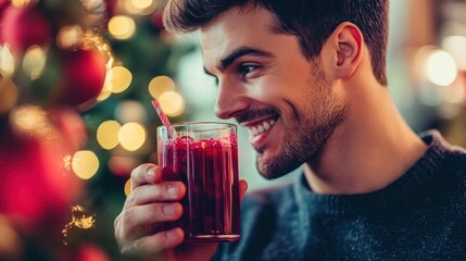
[[[90,150],[75,152],[72,161],[72,170],[81,179],[89,179],[99,170],[99,159]]]

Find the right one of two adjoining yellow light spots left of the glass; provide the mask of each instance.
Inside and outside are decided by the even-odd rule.
[[[118,141],[128,151],[136,151],[146,142],[146,129],[138,123],[126,123],[119,128]]]

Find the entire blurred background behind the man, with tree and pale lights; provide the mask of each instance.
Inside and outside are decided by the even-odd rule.
[[[197,36],[162,0],[0,0],[0,260],[118,260],[131,170],[172,123],[216,121]],[[416,130],[466,147],[466,1],[391,0],[389,88]],[[239,129],[240,176],[266,182]],[[299,173],[297,170],[295,173]],[[289,178],[289,177],[285,177]]]

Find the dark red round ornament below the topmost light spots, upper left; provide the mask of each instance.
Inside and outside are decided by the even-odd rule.
[[[86,107],[96,101],[105,80],[105,58],[98,50],[62,51],[63,79],[58,103]]]

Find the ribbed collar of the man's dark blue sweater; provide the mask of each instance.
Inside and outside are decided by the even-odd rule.
[[[310,190],[304,174],[294,183],[298,201],[307,211],[327,214],[362,213],[385,208],[410,199],[410,195],[431,181],[445,162],[444,154],[450,145],[439,132],[429,130],[419,135],[428,146],[426,153],[399,179],[387,187],[369,194],[319,195]]]

